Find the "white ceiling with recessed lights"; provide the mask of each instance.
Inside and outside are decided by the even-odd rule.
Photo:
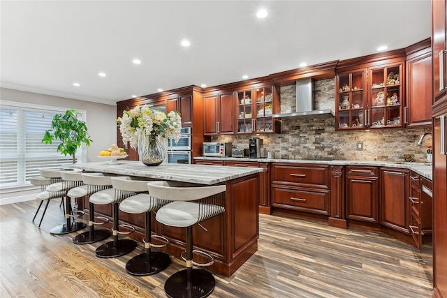
[[[1,1],[0,10],[1,87],[110,104],[431,36],[430,0]]]

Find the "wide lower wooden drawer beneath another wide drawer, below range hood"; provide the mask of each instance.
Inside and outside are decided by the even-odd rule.
[[[329,191],[272,187],[272,206],[329,214]]]

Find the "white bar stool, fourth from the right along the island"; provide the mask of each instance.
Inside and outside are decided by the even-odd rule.
[[[91,244],[110,236],[109,230],[94,228],[95,225],[103,225],[108,223],[109,220],[103,216],[95,216],[94,204],[90,202],[92,194],[112,187],[110,178],[110,176],[104,176],[102,173],[82,174],[84,185],[71,188],[68,191],[68,196],[71,198],[89,197],[89,230],[73,237],[74,244]],[[101,219],[101,222],[95,222],[95,218]]]

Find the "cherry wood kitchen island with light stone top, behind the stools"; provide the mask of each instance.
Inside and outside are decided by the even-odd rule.
[[[147,167],[138,161],[76,163],[66,165],[66,168],[142,177],[148,180],[180,181],[193,186],[225,184],[225,212],[201,223],[207,231],[198,225],[194,226],[194,246],[210,253],[214,257],[214,264],[207,268],[224,276],[231,276],[258,248],[259,172],[263,170],[261,168],[173,163]],[[88,206],[87,199],[82,205]],[[85,211],[88,212],[87,209]],[[95,211],[112,221],[111,205],[96,206]],[[138,233],[144,234],[144,214],[126,214],[120,211],[119,218],[120,221],[134,225]],[[185,248],[184,228],[161,225],[152,218],[152,230],[170,241],[168,246],[161,249],[179,258]],[[140,240],[141,237],[135,239]]]

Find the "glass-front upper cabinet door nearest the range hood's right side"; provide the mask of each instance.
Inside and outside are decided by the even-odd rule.
[[[337,75],[337,129],[365,128],[365,70]]]

